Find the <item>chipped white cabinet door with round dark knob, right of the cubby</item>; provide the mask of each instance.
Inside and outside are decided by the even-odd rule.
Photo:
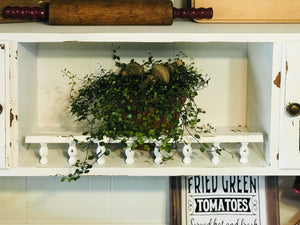
[[[300,169],[300,41],[283,45],[280,167]]]

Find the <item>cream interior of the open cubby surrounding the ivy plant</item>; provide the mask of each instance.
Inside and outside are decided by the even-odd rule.
[[[209,86],[201,90],[196,98],[199,106],[207,112],[203,115],[201,123],[210,123],[214,127],[245,127],[249,132],[259,132],[265,139],[270,132],[268,122],[270,111],[265,107],[265,99],[270,99],[271,96],[272,82],[269,80],[272,80],[272,46],[272,43],[269,42],[21,42],[18,44],[18,133],[19,140],[21,140],[19,165],[27,168],[43,168],[39,164],[37,152],[39,145],[25,144],[25,136],[47,132],[69,134],[82,132],[84,124],[74,122],[76,118],[68,112],[70,86],[68,86],[68,79],[62,76],[62,70],[66,68],[82,77],[99,69],[99,65],[104,69],[115,69],[112,60],[114,49],[117,49],[124,62],[129,62],[131,58],[142,61],[147,59],[149,52],[155,58],[163,59],[175,56],[179,51],[185,52],[188,56],[193,57],[195,66],[211,78]],[[253,51],[256,54],[252,54]],[[260,58],[265,58],[265,56],[268,60],[260,62]],[[252,68],[253,65],[257,65],[255,70]],[[264,86],[257,83],[259,79],[264,82]],[[261,101],[257,99],[259,92],[264,92]],[[254,107],[253,104],[256,106]],[[242,167],[268,166],[267,142],[266,138],[265,143],[251,145],[250,148],[254,150],[251,150],[249,164],[242,165]],[[61,147],[55,145],[49,148],[54,148],[54,150],[49,150],[47,167],[68,168],[65,151],[59,151],[58,149]],[[236,149],[236,146],[230,148]],[[63,147],[63,149],[66,148]],[[120,156],[121,154],[120,150],[112,151],[107,162],[113,160],[112,165],[114,166],[108,166],[109,168],[124,166],[124,158]],[[222,168],[240,166],[238,160],[232,164],[230,161],[232,155],[226,158],[226,153],[221,156],[220,164],[217,166],[211,165],[210,157],[204,155],[194,156],[196,161],[192,165],[183,166],[186,170],[184,173],[193,173],[193,169],[197,170],[197,168],[212,167],[219,169],[219,173],[221,173]],[[118,159],[116,159],[117,156],[119,156]],[[50,159],[52,160],[53,157],[57,157],[54,164],[50,163]],[[150,155],[146,156],[143,162],[148,159],[151,159]],[[199,161],[197,162],[197,160]],[[169,169],[178,167],[176,162],[181,161],[182,159],[178,158],[168,162],[167,166],[161,165],[159,168],[166,168],[165,174],[170,175],[173,172],[170,172]],[[136,167],[158,169],[157,166],[153,167],[148,163],[126,166],[126,168]],[[105,169],[101,168],[102,170]],[[122,173],[121,171],[119,169],[119,172],[111,173],[118,174]],[[105,173],[109,174],[110,172]],[[135,174],[136,172],[127,173]]]

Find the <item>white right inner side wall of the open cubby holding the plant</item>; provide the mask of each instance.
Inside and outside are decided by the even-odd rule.
[[[270,161],[272,50],[272,43],[250,43],[248,48],[247,126],[251,131],[264,133],[260,149],[267,162]]]

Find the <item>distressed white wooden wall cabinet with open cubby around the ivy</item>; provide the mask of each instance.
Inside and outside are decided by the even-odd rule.
[[[179,51],[192,56],[196,66],[211,77],[208,88],[197,97],[199,106],[207,111],[202,122],[210,122],[220,131],[218,138],[225,137],[221,138],[225,140],[221,146],[232,154],[224,152],[218,160],[212,160],[215,156],[193,151],[191,163],[184,164],[179,152],[174,160],[158,166],[153,163],[152,153],[137,152],[135,163],[126,165],[124,152],[116,149],[106,158],[105,164],[95,166],[92,175],[298,174],[297,167],[284,169],[287,168],[282,155],[285,151],[279,150],[296,148],[293,151],[299,152],[299,143],[293,146],[289,141],[280,144],[279,140],[284,140],[285,128],[282,126],[286,107],[281,96],[285,93],[283,86],[289,84],[282,79],[282,85],[278,87],[276,82],[280,74],[285,76],[285,57],[298,54],[290,46],[290,43],[300,41],[298,30],[297,24],[230,25],[190,21],[175,21],[172,26],[138,27],[2,24],[0,40],[9,43],[5,48],[9,49],[9,60],[5,57],[7,53],[1,50],[0,63],[9,61],[9,67],[1,67],[0,78],[10,82],[10,107],[6,106],[6,113],[1,114],[1,131],[4,130],[1,140],[6,140],[1,142],[1,153],[10,152],[11,163],[9,169],[0,170],[0,175],[47,176],[70,171],[68,142],[60,137],[76,134],[80,127],[68,113],[69,87],[61,71],[67,68],[84,75],[93,72],[99,64],[113,68],[114,49],[118,49],[124,61],[142,60],[148,52],[157,58],[174,56]],[[299,49],[299,44],[297,46]],[[292,64],[297,65],[296,59],[293,59],[295,62],[287,60],[291,65],[287,77],[292,72]],[[8,96],[7,85],[2,82],[0,85],[3,102]],[[299,94],[297,88],[289,91],[291,96]],[[287,101],[292,100],[296,101]],[[7,118],[8,110],[10,118]],[[298,130],[287,131],[287,137],[299,136],[299,119],[295,121],[298,121],[295,124]],[[244,131],[248,136],[259,134],[255,136],[259,138],[247,145],[245,135],[241,135]],[[59,141],[53,143],[54,139]],[[203,140],[217,142],[217,139]],[[6,143],[5,147],[3,143]],[[249,149],[245,150],[246,145]],[[241,160],[240,152],[244,150],[247,159]],[[83,152],[79,150],[76,157],[81,155]],[[43,164],[40,163],[41,156],[46,157]],[[1,162],[5,166],[6,160]]]

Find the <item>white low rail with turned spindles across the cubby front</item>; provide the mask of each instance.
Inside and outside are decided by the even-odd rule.
[[[48,144],[53,143],[65,143],[68,144],[68,163],[70,165],[74,165],[77,161],[77,147],[74,139],[77,139],[78,142],[87,142],[86,136],[64,136],[64,135],[31,135],[25,137],[25,143],[38,143],[40,144],[39,155],[40,155],[40,163],[47,164],[48,163]],[[135,162],[135,151],[131,150],[132,143],[134,141],[134,137],[127,141],[127,148],[125,150],[125,163],[133,164]],[[145,140],[146,142],[147,140]],[[192,136],[186,135],[184,136],[185,144],[183,144],[183,148],[181,149],[183,159],[183,164],[192,163],[192,144],[198,143],[199,141],[193,138]],[[105,143],[120,143],[120,140],[110,140],[106,138],[103,140]],[[167,153],[159,152],[160,143],[156,140],[149,140],[149,143],[155,143],[155,159],[154,164],[161,164],[163,162],[163,156],[166,156]],[[209,133],[201,136],[201,143],[211,144],[211,151],[208,151],[210,155],[210,160],[212,164],[218,164],[220,162],[220,157],[215,151],[220,148],[222,144],[225,143],[236,143],[237,144],[237,152],[240,156],[239,162],[241,164],[248,163],[248,156],[250,154],[250,150],[248,147],[249,143],[261,143],[263,142],[263,135],[258,132],[248,132],[248,131],[237,131],[234,129],[220,129],[216,130],[214,133]],[[104,152],[106,151],[105,146],[101,146],[98,140],[94,140],[94,143],[97,144],[96,153],[99,158],[97,159],[98,164],[105,163]]]

